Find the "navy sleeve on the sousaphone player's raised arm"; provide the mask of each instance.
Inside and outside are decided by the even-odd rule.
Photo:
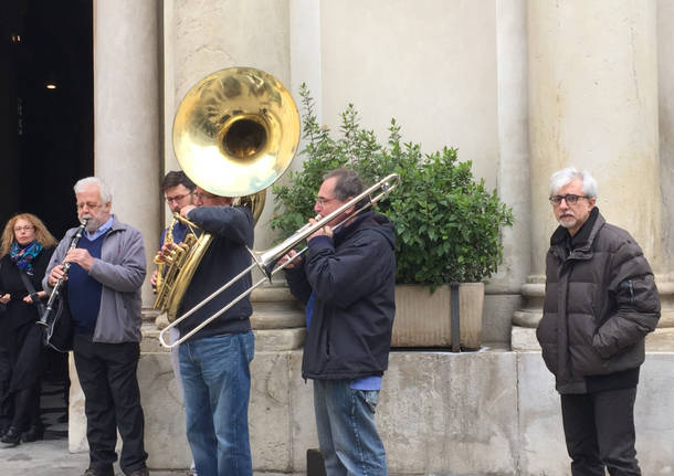
[[[253,214],[246,207],[199,207],[188,216],[209,233],[236,244],[253,245]]]

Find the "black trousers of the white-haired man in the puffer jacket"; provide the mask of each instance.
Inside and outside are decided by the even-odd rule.
[[[573,476],[641,475],[634,449],[636,387],[562,394],[561,414]]]

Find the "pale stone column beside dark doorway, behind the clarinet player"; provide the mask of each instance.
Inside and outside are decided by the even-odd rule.
[[[148,272],[160,230],[159,34],[156,0],[94,6],[94,170],[113,212],[144,235]],[[149,279],[144,304],[151,304]]]

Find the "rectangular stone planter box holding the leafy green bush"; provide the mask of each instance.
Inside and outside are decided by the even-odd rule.
[[[451,347],[451,289],[417,285],[396,286],[396,320],[391,347]],[[482,346],[484,284],[459,285],[461,347],[477,350]]]

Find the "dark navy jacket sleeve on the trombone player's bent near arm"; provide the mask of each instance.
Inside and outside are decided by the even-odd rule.
[[[392,250],[377,231],[362,230],[338,252],[325,236],[315,237],[308,246],[307,279],[316,296],[333,306],[349,307],[371,294],[388,276],[383,266],[388,265],[387,253]]]

